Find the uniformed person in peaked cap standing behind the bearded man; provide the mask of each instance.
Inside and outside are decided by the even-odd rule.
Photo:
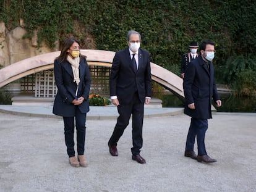
[[[181,77],[184,78],[185,70],[189,66],[190,62],[198,57],[197,54],[198,44],[196,41],[191,41],[189,44],[189,52],[183,54],[181,59]]]

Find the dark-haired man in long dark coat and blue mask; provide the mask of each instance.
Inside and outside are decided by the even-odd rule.
[[[191,118],[187,134],[185,156],[197,159],[198,162],[216,162],[207,155],[205,133],[208,119],[211,119],[211,99],[216,106],[221,106],[220,96],[216,89],[212,60],[215,56],[215,43],[203,41],[200,44],[200,56],[187,67],[183,81],[186,99],[184,113]],[[198,156],[194,152],[195,136],[197,137]]]

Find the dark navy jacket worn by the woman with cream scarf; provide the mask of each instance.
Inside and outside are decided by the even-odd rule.
[[[77,98],[82,96],[85,101],[79,106],[72,104],[75,99],[75,91],[77,84],[74,82],[74,75],[72,72],[71,64],[66,60],[60,62],[58,59],[54,61],[54,76],[55,82],[58,87],[56,98],[54,99],[53,114],[62,117],[74,117],[75,107],[79,107],[80,112],[87,113],[89,111],[89,91],[91,85],[90,70],[88,68],[85,57],[80,57],[79,65],[79,90]]]

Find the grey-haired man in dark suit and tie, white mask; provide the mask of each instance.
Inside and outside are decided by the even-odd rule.
[[[110,154],[118,156],[117,142],[129,124],[132,114],[132,159],[145,164],[145,159],[140,156],[140,149],[142,148],[144,102],[148,104],[151,99],[151,69],[150,54],[140,49],[140,41],[140,33],[128,31],[129,48],[117,51],[113,59],[109,91],[113,104],[117,106],[119,117],[108,146]]]

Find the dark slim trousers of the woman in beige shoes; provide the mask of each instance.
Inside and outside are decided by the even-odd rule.
[[[85,151],[85,122],[86,114],[81,113],[79,108],[75,109],[75,117],[63,117],[65,143],[69,157],[75,156],[74,150],[74,131],[77,130],[77,154],[83,155]],[[74,122],[75,120],[75,122]]]

